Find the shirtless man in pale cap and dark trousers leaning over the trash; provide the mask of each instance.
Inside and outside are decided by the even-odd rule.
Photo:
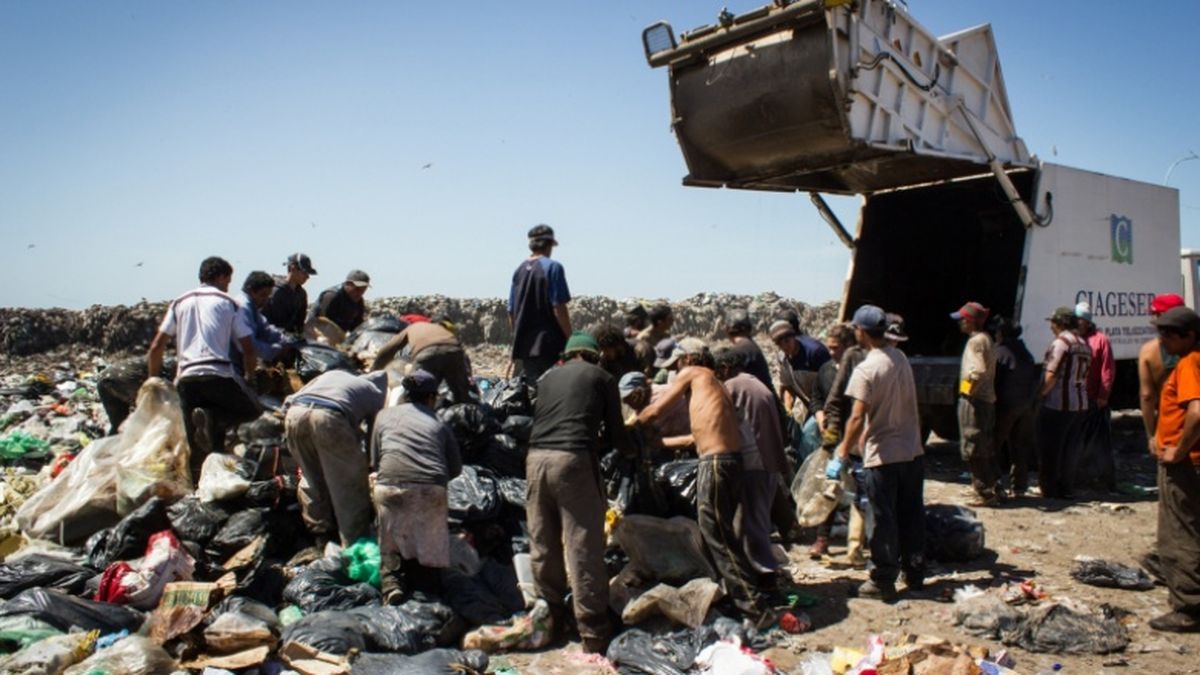
[[[662,398],[637,414],[637,422],[654,422],[664,410],[690,394],[688,412],[700,456],[696,473],[700,532],[733,604],[751,621],[766,627],[774,616],[755,584],[754,566],[733,527],[743,490],[738,413],[725,386],[713,372],[713,354],[704,342],[684,338],[679,347],[684,354],[679,357],[678,376]]]

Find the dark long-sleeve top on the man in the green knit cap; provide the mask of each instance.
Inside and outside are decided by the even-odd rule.
[[[617,381],[598,365],[572,359],[538,381],[530,448],[631,453]]]

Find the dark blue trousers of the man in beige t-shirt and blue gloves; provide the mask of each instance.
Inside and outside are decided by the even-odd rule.
[[[901,569],[910,580],[924,579],[924,458],[863,468],[863,484],[871,580],[895,584]]]

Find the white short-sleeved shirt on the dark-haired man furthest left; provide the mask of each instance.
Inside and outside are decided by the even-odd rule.
[[[234,340],[253,335],[254,328],[238,311],[238,303],[230,295],[202,285],[175,298],[158,331],[175,338],[178,382],[204,375],[234,377],[229,346]]]

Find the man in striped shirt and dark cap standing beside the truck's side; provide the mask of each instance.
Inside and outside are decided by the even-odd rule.
[[[1070,498],[1084,444],[1092,351],[1075,334],[1074,307],[1058,307],[1046,321],[1055,338],[1042,362],[1038,486],[1043,497]]]

